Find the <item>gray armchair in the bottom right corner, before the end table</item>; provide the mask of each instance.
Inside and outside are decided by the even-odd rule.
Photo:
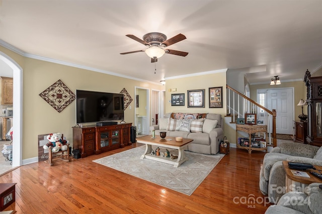
[[[265,214],[279,213],[305,213],[318,214],[322,212],[322,183],[311,183],[308,185],[308,193],[288,192],[284,194],[276,205],[271,205]]]

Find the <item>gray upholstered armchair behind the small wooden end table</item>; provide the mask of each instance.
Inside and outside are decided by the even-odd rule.
[[[322,147],[301,143],[282,142],[264,156],[260,172],[260,190],[268,195],[271,203],[277,203],[285,192],[285,171],[282,162],[310,163],[322,166]]]

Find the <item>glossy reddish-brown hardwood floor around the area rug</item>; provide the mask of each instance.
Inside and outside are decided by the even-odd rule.
[[[92,160],[135,143],[71,162],[21,166],[0,177],[17,183],[17,213],[264,213],[259,190],[264,152],[231,148],[191,196],[116,171]],[[172,167],[172,166],[171,166]],[[255,203],[251,203],[254,198]],[[250,200],[250,201],[248,201]],[[266,200],[267,201],[267,200]],[[248,203],[249,202],[249,203]],[[266,206],[265,206],[266,205]]]

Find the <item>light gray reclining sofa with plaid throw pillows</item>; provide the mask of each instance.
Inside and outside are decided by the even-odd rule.
[[[167,132],[167,137],[193,139],[188,151],[202,154],[216,154],[223,139],[223,118],[219,114],[167,113],[158,119],[158,125],[150,127],[155,135]]]

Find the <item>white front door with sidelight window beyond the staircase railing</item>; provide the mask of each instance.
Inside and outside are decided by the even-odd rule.
[[[293,134],[293,100],[292,88],[267,90],[267,108],[276,110],[277,134]]]

